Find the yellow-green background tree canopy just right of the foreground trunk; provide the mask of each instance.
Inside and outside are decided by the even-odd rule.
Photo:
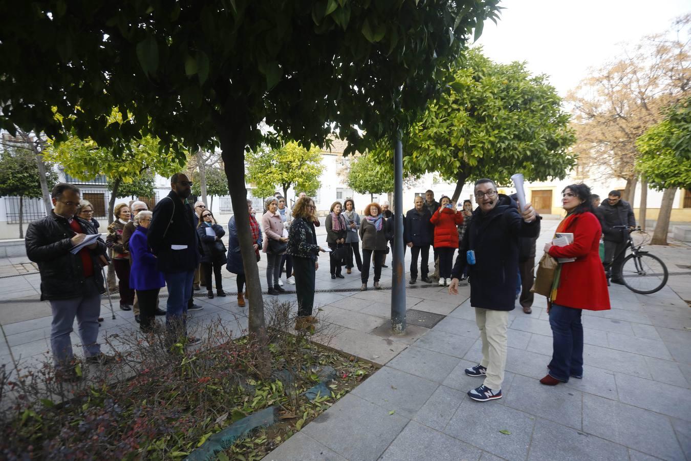
[[[256,185],[257,197],[274,195],[276,187],[284,197],[291,187],[314,195],[321,185],[322,171],[321,150],[314,146],[306,149],[294,141],[278,149],[263,147],[247,153],[247,182]]]

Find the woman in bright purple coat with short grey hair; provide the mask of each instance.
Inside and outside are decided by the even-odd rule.
[[[151,253],[146,232],[151,224],[151,211],[140,211],[134,217],[135,231],[130,237],[129,251],[132,258],[130,287],[137,292],[140,308],[139,326],[143,332],[153,332],[158,292],[166,285],[163,273],[156,269],[156,256]]]

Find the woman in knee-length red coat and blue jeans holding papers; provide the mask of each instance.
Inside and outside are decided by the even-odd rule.
[[[590,188],[585,184],[567,186],[562,191],[566,218],[557,232],[574,234],[574,243],[565,247],[545,245],[554,258],[576,258],[561,263],[552,285],[547,312],[552,328],[553,351],[549,373],[542,384],[556,386],[569,377],[583,378],[583,309],[608,310],[609,292],[605,269],[600,261],[600,221],[594,214]]]

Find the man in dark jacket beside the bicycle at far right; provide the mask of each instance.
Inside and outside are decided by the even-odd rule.
[[[621,200],[620,191],[609,192],[609,197],[598,207],[598,218],[603,228],[605,241],[605,272],[607,281],[623,284],[621,267],[624,263],[626,245],[629,241],[626,229],[613,229],[614,226],[636,227],[634,210],[628,202]]]

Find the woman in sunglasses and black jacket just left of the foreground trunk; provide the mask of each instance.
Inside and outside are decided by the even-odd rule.
[[[209,299],[214,299],[214,290],[211,289],[211,270],[213,270],[216,278],[216,296],[225,297],[223,276],[220,274],[220,268],[227,261],[225,245],[221,241],[225,235],[225,230],[216,223],[216,218],[214,218],[211,210],[205,209],[199,216],[197,234],[199,234],[199,240],[202,242],[202,249],[204,250],[201,264],[204,271],[204,281],[207,285],[207,296]]]

